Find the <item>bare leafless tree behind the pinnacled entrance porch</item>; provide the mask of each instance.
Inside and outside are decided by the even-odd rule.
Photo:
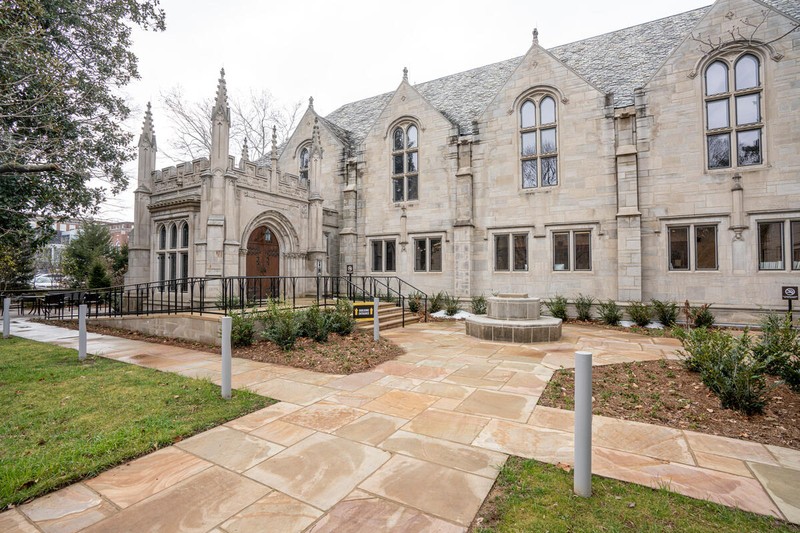
[[[167,110],[175,137],[170,139],[172,159],[207,157],[211,150],[211,98],[199,102],[188,101],[180,87],[161,93],[161,103]],[[250,159],[255,161],[268,155],[272,149],[272,128],[277,132],[278,144],[289,138],[297,122],[300,102],[285,106],[278,104],[266,89],[251,91],[246,97],[231,99],[231,151],[241,150],[245,139]]]

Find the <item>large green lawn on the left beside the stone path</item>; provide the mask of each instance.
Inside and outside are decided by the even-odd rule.
[[[0,511],[274,403],[208,381],[0,339]]]

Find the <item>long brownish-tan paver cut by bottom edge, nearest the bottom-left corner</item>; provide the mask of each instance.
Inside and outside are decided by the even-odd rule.
[[[180,531],[205,533],[270,491],[213,466],[95,524],[86,533]]]

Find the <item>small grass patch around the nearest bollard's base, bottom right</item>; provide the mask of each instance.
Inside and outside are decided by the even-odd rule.
[[[572,473],[509,458],[471,531],[791,531],[800,527],[714,503],[592,476],[592,497],[572,492]]]

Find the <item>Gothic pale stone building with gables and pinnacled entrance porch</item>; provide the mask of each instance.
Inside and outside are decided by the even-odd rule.
[[[157,171],[139,142],[128,281],[398,276],[458,297],[780,308],[800,280],[800,3],[712,6],[346,104],[256,164]],[[223,73],[224,74],[224,73]]]

